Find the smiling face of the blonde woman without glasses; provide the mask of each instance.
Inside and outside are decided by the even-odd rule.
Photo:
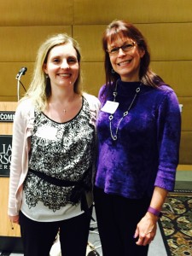
[[[49,51],[44,73],[49,75],[51,87],[71,86],[79,76],[79,61],[72,44],[56,45]]]

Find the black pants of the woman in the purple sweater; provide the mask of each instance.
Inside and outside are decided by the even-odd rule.
[[[137,223],[147,212],[150,199],[130,200],[94,189],[96,219],[103,256],[147,256],[148,246],[133,238]]]

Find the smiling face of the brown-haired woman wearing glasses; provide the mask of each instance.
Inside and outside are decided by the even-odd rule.
[[[134,43],[131,38],[117,37],[108,44],[108,53],[113,70],[119,73],[122,81],[139,81],[140,60],[145,52]],[[133,47],[128,49],[126,45],[131,44]],[[116,51],[116,48],[119,50]]]

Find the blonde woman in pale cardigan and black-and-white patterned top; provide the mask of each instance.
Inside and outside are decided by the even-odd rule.
[[[58,231],[62,255],[86,253],[100,102],[81,90],[80,60],[73,38],[45,40],[15,113],[9,218],[25,256],[48,256]]]

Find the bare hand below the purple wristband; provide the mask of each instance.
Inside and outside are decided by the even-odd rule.
[[[137,224],[137,229],[135,232],[134,238],[138,238],[137,245],[146,246],[152,240],[157,230],[157,220],[158,217],[154,216],[150,212],[147,212],[146,215],[141,219]]]

